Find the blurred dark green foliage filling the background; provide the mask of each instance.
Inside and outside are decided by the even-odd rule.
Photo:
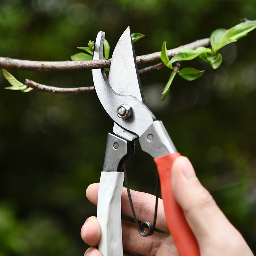
[[[231,28],[239,18],[255,20],[255,8],[254,1],[2,0],[0,56],[70,60],[77,46],[103,30],[111,57],[128,25],[145,35],[135,44],[136,55],[143,55],[161,51],[164,41],[174,48]],[[167,68],[141,77],[148,107],[254,253],[255,38],[252,31],[223,47],[217,70],[192,60],[204,75],[191,82],[177,76],[163,102]],[[91,71],[8,71],[21,82],[92,85]],[[82,255],[80,228],[96,214],[85,190],[99,181],[112,122],[95,93],[23,94],[4,90],[9,84],[2,75],[0,84],[0,255]],[[139,146],[127,172],[132,189],[154,193],[156,167]]]

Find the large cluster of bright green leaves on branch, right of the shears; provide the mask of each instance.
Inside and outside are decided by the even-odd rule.
[[[170,86],[176,74],[178,73],[182,78],[192,81],[199,76],[202,76],[204,70],[196,70],[195,68],[184,68],[179,70],[177,67],[173,67],[173,63],[182,60],[193,60],[196,57],[199,57],[204,62],[208,63],[213,69],[219,68],[222,62],[222,56],[218,51],[227,44],[236,42],[239,38],[244,37],[248,34],[248,32],[252,31],[256,28],[256,22],[241,22],[238,25],[230,28],[230,29],[216,29],[211,34],[211,49],[205,47],[198,47],[196,49],[186,48],[179,52],[177,55],[173,56],[171,60],[169,60],[166,42],[164,42],[161,51],[161,60],[163,63],[170,69],[173,69],[171,76],[165,85],[163,91],[164,100],[170,91]]]

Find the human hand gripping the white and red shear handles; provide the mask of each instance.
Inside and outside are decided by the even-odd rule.
[[[97,205],[99,183],[86,190],[87,198]],[[210,193],[196,178],[195,171],[186,157],[179,157],[172,167],[173,194],[184,211],[186,220],[194,233],[201,256],[253,256],[242,235],[228,221]],[[139,220],[153,220],[155,196],[132,191],[132,201]],[[122,191],[122,214],[132,217],[126,188]],[[156,228],[168,232],[164,207],[159,199]],[[122,221],[124,255],[134,252],[145,256],[178,256],[172,236],[155,232],[152,236],[140,236],[136,225]],[[100,226],[96,217],[88,218],[81,237],[90,247],[84,255],[102,256],[96,246],[100,241]]]

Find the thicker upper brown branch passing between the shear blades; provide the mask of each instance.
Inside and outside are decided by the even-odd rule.
[[[196,49],[199,46],[208,46],[210,38],[196,40],[193,43],[185,44],[175,49],[168,50],[168,56],[179,53],[185,48]],[[161,61],[161,52],[141,55],[136,57],[137,64],[148,64]],[[0,57],[0,68],[13,68],[21,70],[37,70],[37,71],[67,71],[67,70],[83,70],[93,68],[109,68],[111,59],[107,60],[85,60],[85,61],[33,61],[33,60],[17,60],[8,57]]]

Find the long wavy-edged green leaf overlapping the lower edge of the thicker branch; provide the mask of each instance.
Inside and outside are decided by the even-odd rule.
[[[178,61],[178,60],[193,60],[197,56],[199,56],[200,54],[202,54],[204,52],[212,52],[212,50],[210,48],[205,48],[203,46],[198,47],[195,50],[186,48],[186,49],[182,50],[180,53],[178,53],[177,55],[175,55],[169,61],[167,66],[169,66],[170,64],[172,64],[173,62]]]

